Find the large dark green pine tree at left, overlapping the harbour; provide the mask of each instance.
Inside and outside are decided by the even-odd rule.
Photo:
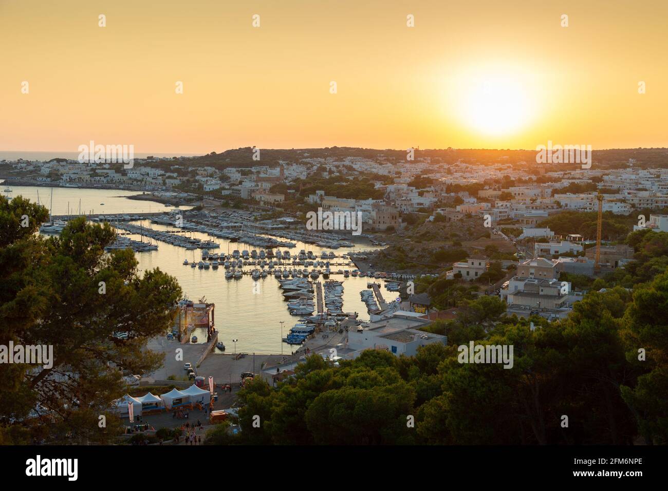
[[[17,420],[37,440],[104,441],[114,418],[105,430],[98,416],[125,393],[122,375],[162,362],[146,341],[166,331],[181,291],[158,269],[138,275],[132,251],[105,253],[108,224],[77,218],[44,238],[35,232],[47,216],[21,196],[0,198],[0,345],[53,347],[52,367],[0,363],[0,439],[22,440],[7,430]],[[112,337],[117,331],[129,339]]]

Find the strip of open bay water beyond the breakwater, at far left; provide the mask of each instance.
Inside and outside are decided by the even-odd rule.
[[[0,184],[5,189],[4,184]],[[49,208],[51,203],[51,189],[53,189],[54,215],[66,215],[68,213],[78,214],[79,200],[81,200],[81,213],[150,213],[172,210],[170,206],[164,206],[154,201],[129,200],[124,196],[142,194],[136,191],[118,189],[83,189],[83,188],[43,188],[40,186],[10,186],[11,193],[5,193],[11,197],[23,196],[31,201],[39,202]],[[104,205],[102,204],[104,203]],[[67,206],[69,205],[69,212]],[[190,206],[182,206],[181,210],[187,210]]]

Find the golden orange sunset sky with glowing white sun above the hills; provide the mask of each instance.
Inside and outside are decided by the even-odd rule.
[[[460,3],[0,0],[0,150],[668,146],[667,1]]]

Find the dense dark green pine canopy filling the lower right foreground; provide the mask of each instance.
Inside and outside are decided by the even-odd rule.
[[[432,324],[448,346],[368,350],[340,366],[313,355],[278,389],[257,377],[240,392],[242,431],[226,443],[665,444],[666,303],[668,274],[633,295],[589,293],[554,323],[500,317],[502,302],[482,297]],[[513,345],[513,368],[459,363],[457,345],[471,339]]]

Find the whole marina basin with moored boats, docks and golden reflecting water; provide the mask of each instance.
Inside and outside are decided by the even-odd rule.
[[[35,200],[37,191],[35,189]],[[96,206],[104,202],[108,212],[90,214],[88,218],[94,222],[109,222],[118,231],[116,242],[108,250],[132,248],[137,252],[140,274],[158,267],[178,280],[185,298],[206,296],[208,302],[216,305],[219,314],[216,342],[226,347],[226,353],[232,351],[232,339],[237,339],[237,353],[281,353],[285,352],[285,347],[294,350],[302,344],[296,342],[299,336],[311,327],[313,331],[335,329],[347,319],[347,314],[357,316],[359,321],[368,320],[367,304],[359,292],[367,289],[369,279],[391,276],[359,271],[353,260],[364,257],[363,250],[367,246],[341,247],[337,243],[332,247],[335,239],[329,237],[332,234],[327,234],[326,239],[325,236],[309,238],[309,242],[317,239],[326,244],[323,247],[296,240],[300,235],[296,230],[282,230],[283,236],[266,234],[263,228],[252,224],[234,224],[234,219],[227,215],[206,218],[210,223],[185,219],[184,226],[174,226],[172,220],[183,208],[168,210],[156,204],[162,210],[155,212],[154,205],[146,201],[113,198],[121,194],[117,190],[55,189],[50,224],[53,229],[43,230],[43,233],[59,233],[68,218],[77,216],[79,195],[89,193],[95,195],[91,201]],[[13,186],[12,194],[25,194],[25,190]],[[48,207],[50,191],[39,189],[39,197]],[[81,198],[82,214],[91,201]],[[184,215],[187,218],[185,212]],[[276,247],[277,243],[283,245]],[[275,247],[266,247],[267,244]],[[302,288],[292,291],[281,288],[279,280],[296,279]],[[329,283],[333,279],[343,283]],[[321,317],[317,317],[319,315]],[[283,333],[281,321],[285,326]],[[326,325],[327,322],[334,325]],[[290,333],[293,328],[295,331]],[[291,334],[289,343],[288,333]],[[297,337],[293,336],[295,334]],[[206,343],[210,337],[207,329],[196,325],[188,344],[193,343],[193,336],[197,345]],[[222,353],[216,348],[210,355]]]

